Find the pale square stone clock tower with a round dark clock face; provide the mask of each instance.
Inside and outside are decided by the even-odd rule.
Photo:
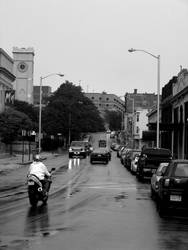
[[[33,104],[34,49],[13,48],[15,99]]]

